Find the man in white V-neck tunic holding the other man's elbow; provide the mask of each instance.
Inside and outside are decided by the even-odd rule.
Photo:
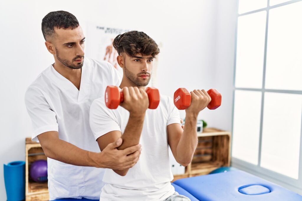
[[[55,62],[28,87],[25,104],[34,127],[32,140],[40,141],[47,156],[50,200],[99,199],[102,168],[130,168],[140,155],[140,145],[117,150],[118,138],[100,152],[89,126],[92,101],[120,79],[108,62],[84,60],[85,36],[71,13],[47,14],[42,33]]]

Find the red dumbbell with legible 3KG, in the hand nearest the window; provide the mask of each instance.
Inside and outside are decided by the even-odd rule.
[[[207,108],[214,110],[221,105],[221,94],[216,89],[210,89],[207,93],[211,97],[211,102],[207,105]],[[174,93],[174,105],[179,110],[184,110],[191,105],[191,93],[185,88],[179,88]]]

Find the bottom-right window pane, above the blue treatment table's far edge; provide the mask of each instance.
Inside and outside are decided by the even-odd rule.
[[[263,168],[298,179],[302,95],[270,93],[264,96]]]

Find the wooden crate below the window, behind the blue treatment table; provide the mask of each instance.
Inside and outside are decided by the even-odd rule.
[[[186,167],[185,174],[174,175],[174,180],[185,177],[209,174],[211,171],[230,166],[231,133],[216,129],[204,128],[198,133],[198,145],[192,162]]]

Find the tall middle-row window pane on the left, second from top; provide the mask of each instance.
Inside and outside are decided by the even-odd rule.
[[[238,17],[235,86],[262,88],[266,11]]]

